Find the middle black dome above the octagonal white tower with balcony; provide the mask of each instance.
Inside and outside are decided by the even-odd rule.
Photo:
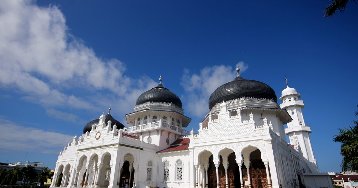
[[[167,88],[163,87],[161,83],[157,87],[151,88],[151,90],[142,93],[137,99],[135,105],[140,105],[145,102],[171,102],[180,108],[183,108],[182,101],[173,92],[170,92]]]

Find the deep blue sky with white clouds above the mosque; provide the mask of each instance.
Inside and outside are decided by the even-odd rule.
[[[45,162],[107,112],[125,124],[144,91],[176,93],[187,129],[208,98],[241,76],[281,96],[296,88],[322,172],[340,172],[339,143],[358,105],[358,5],[323,18],[313,1],[1,1],[0,162]],[[279,101],[279,103],[281,103]],[[126,125],[126,124],[125,124]]]

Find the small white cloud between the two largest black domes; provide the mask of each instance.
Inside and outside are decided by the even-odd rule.
[[[240,72],[248,68],[242,61],[238,66]],[[211,93],[224,83],[233,81],[236,75],[232,67],[224,65],[204,67],[200,74],[190,74],[188,69],[184,69],[180,84],[185,90],[182,99],[187,102],[186,110],[200,118],[205,116],[209,111],[208,101]]]

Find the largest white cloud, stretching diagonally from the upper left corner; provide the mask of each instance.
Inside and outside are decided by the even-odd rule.
[[[96,56],[71,35],[57,6],[39,7],[33,0],[0,1],[0,87],[50,109],[48,115],[56,107],[99,110],[107,105],[103,99],[66,91],[73,88],[91,95],[105,91],[122,102],[121,108],[132,109],[136,96],[155,82],[146,76],[129,78],[125,71],[124,63]]]

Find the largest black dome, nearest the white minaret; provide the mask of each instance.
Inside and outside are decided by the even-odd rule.
[[[237,76],[234,81],[228,82],[218,87],[209,98],[209,109],[216,103],[241,97],[255,97],[272,99],[277,102],[275,91],[266,83],[255,80],[243,79]]]

